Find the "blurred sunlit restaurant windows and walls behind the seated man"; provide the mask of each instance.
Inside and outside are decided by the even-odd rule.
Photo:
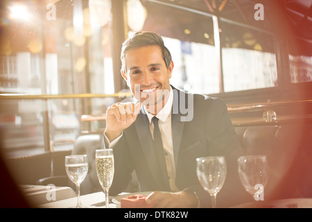
[[[164,37],[175,64],[171,84],[223,99],[234,126],[277,119],[311,123],[311,0],[0,4],[0,128],[6,160],[62,153],[62,162],[80,135],[101,134],[107,106],[132,99],[120,74],[120,51],[122,42],[141,30]],[[21,178],[29,169],[19,169],[15,180],[33,184],[64,173],[49,161],[39,176]],[[34,162],[33,169],[42,167]]]

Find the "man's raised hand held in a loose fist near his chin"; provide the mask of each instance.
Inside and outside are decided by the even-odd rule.
[[[105,135],[110,142],[137,119],[140,108],[141,103],[114,103],[107,108]]]

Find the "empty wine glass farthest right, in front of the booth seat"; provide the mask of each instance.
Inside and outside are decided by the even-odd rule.
[[[259,200],[259,198],[263,200],[263,189],[266,187],[269,177],[266,156],[248,155],[239,157],[238,167],[239,178],[245,190],[252,194],[254,200]]]

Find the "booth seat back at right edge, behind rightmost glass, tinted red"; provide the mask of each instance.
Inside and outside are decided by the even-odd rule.
[[[312,197],[312,124],[236,126],[245,155],[266,155],[270,199]],[[310,187],[310,188],[309,188]]]

